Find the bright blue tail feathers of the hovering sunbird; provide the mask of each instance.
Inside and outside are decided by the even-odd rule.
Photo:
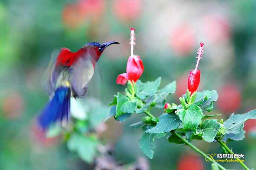
[[[70,112],[70,88],[59,87],[55,95],[38,117],[38,123],[43,130],[46,130],[52,123],[68,121]]]

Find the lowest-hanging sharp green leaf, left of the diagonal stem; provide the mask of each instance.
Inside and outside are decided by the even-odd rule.
[[[155,138],[164,137],[165,133],[144,133],[139,140],[140,149],[147,155],[150,159],[153,158],[155,149]]]

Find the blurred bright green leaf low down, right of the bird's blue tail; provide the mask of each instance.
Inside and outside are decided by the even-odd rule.
[[[73,133],[68,140],[68,149],[77,152],[82,160],[92,163],[96,154],[98,141],[93,138]]]

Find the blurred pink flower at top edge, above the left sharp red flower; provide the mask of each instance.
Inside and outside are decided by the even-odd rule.
[[[141,0],[115,0],[113,10],[115,16],[121,21],[131,21],[141,13]]]

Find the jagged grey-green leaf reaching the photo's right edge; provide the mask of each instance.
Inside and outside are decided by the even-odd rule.
[[[256,119],[256,109],[242,115],[234,115],[234,113],[232,113],[229,119],[224,122],[226,128],[225,132],[227,134],[240,133],[244,127],[244,122],[248,119]]]

